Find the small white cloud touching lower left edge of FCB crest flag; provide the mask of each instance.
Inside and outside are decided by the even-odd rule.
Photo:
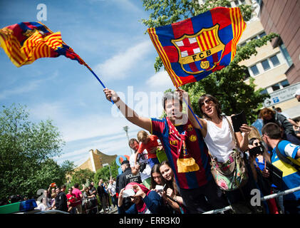
[[[147,81],[147,85],[150,88],[155,88],[156,90],[167,90],[168,88],[173,88],[173,84],[167,71],[160,71],[151,76]]]

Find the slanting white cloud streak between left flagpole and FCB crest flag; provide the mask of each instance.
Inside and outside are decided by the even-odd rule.
[[[105,81],[124,79],[130,76],[133,68],[140,66],[144,56],[152,51],[150,41],[143,41],[128,48],[124,52],[119,52],[103,63],[95,66],[95,73],[98,73]]]

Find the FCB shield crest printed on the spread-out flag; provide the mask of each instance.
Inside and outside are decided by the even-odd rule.
[[[178,63],[189,74],[198,74],[212,70],[219,61],[225,45],[218,36],[219,24],[211,28],[202,28],[196,34],[183,35],[171,40],[178,51]]]

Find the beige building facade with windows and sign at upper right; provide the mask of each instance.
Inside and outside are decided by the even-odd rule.
[[[275,7],[274,5],[279,7],[277,4],[279,1],[268,0],[267,2],[268,7]],[[269,4],[270,2],[273,2],[273,5]],[[252,39],[261,38],[271,32],[278,33],[280,37],[274,38],[261,48],[257,48],[257,55],[242,61],[241,64],[248,67],[249,76],[254,78],[254,83],[257,85],[256,89],[263,88],[262,93],[269,93],[270,98],[264,100],[264,107],[279,107],[290,118],[299,118],[300,103],[294,98],[294,93],[300,88],[300,77],[299,73],[297,73],[299,68],[299,44],[297,46],[298,59],[294,60],[297,51],[294,49],[289,51],[289,49],[291,49],[290,46],[296,47],[295,42],[288,40],[289,42],[286,43],[288,43],[289,48],[287,48],[283,38],[281,38],[283,36],[286,39],[286,30],[277,29],[273,21],[269,19],[269,16],[266,16],[267,10],[263,9],[264,7],[267,8],[267,6],[264,6],[263,1],[257,0],[251,3],[255,9],[254,15],[250,21],[247,21],[247,28],[239,41],[239,46],[243,46],[247,42],[252,41]],[[246,4],[249,4],[249,2],[246,2]],[[279,13],[275,11],[272,14]],[[291,20],[288,19],[289,17],[291,15],[284,14],[284,21]],[[279,16],[277,15],[276,18],[278,19]],[[271,22],[266,23],[266,21]],[[279,20],[276,20],[276,22],[280,25],[284,23],[279,23]],[[297,31],[299,32],[299,21],[297,21],[295,26],[289,26],[289,28],[291,28],[289,33],[293,34],[292,36],[296,36]],[[289,38],[290,36],[287,37]],[[299,39],[297,42],[299,43]],[[245,82],[248,83],[249,78]]]

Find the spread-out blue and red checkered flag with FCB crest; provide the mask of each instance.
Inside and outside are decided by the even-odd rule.
[[[228,66],[245,28],[238,7],[217,7],[148,33],[172,83],[180,87]]]

